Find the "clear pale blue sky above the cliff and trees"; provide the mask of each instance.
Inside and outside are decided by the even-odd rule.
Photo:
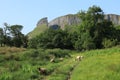
[[[0,27],[7,22],[10,25],[23,25],[23,33],[32,31],[43,17],[48,20],[66,14],[75,14],[97,5],[106,14],[120,15],[120,0],[0,0]]]

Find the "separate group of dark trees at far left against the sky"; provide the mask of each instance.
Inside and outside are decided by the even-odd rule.
[[[0,46],[27,47],[28,38],[21,30],[22,25],[8,25],[0,28]]]

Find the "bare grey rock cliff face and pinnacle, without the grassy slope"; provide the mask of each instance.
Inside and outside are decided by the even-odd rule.
[[[120,25],[120,16],[115,14],[107,14],[105,15],[105,19],[112,21],[115,25]],[[38,21],[37,26],[40,26],[42,24],[47,24],[48,27],[60,27],[64,29],[65,25],[73,25],[73,24],[79,24],[82,20],[78,18],[77,15],[69,14],[65,16],[61,16],[58,18],[55,18],[54,20],[50,21],[48,23],[47,18],[42,18],[40,21]]]

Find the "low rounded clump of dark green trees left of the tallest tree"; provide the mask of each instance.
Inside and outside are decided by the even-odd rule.
[[[30,48],[72,48],[72,43],[67,32],[61,29],[53,30],[51,28],[29,40],[28,44]]]

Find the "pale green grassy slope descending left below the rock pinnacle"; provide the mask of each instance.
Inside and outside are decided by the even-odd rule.
[[[39,35],[40,33],[44,32],[47,28],[48,27],[46,24],[43,24],[41,26],[37,26],[32,32],[28,33],[28,37],[33,38],[33,37]]]

